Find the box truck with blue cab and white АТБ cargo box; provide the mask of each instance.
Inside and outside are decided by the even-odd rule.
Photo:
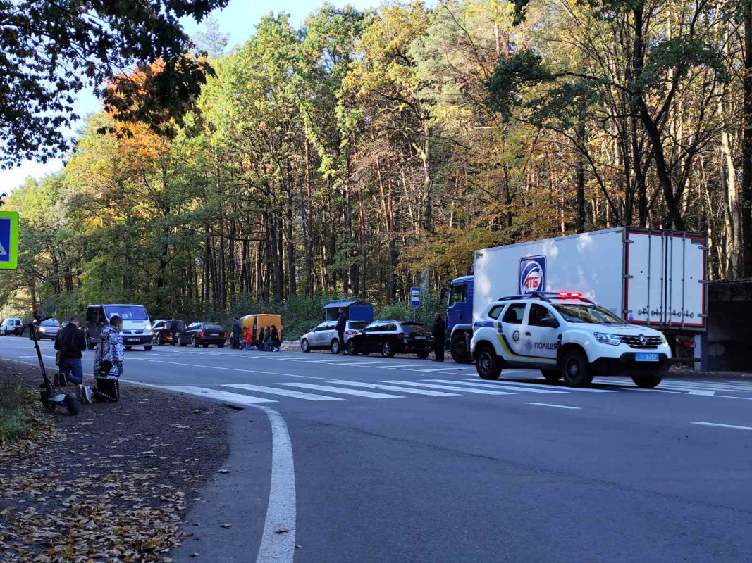
[[[473,323],[486,306],[536,292],[578,292],[667,336],[704,331],[707,262],[701,233],[632,227],[484,248],[473,274],[448,288],[447,345],[456,362],[471,362]]]

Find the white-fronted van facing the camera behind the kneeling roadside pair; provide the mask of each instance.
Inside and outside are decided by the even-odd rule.
[[[93,350],[99,343],[99,333],[102,327],[109,324],[110,319],[117,315],[123,319],[123,345],[126,350],[133,346],[143,346],[144,350],[151,350],[151,321],[143,305],[89,305],[86,308],[86,345]]]

